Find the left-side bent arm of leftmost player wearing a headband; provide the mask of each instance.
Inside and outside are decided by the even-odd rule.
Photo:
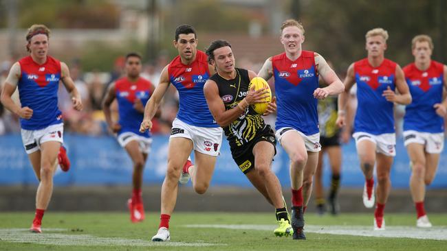
[[[18,115],[22,119],[31,119],[32,109],[28,106],[20,107],[14,103],[11,96],[14,91],[16,91],[17,84],[19,83],[19,78],[21,74],[20,64],[16,62],[12,65],[8,77],[6,77],[6,82],[3,84],[3,90],[1,91],[1,104],[10,110],[14,114]]]

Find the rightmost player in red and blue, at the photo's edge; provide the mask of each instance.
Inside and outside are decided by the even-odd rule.
[[[425,187],[435,178],[439,154],[444,149],[444,117],[447,100],[447,66],[431,60],[433,41],[418,35],[412,40],[415,62],[404,67],[404,74],[413,101],[406,106],[404,145],[411,160],[410,191],[415,203],[419,228],[430,228],[424,209]]]

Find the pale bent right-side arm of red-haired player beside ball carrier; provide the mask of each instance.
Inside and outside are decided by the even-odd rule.
[[[315,53],[315,64],[318,67],[318,73],[327,84],[325,88],[316,88],[314,91],[314,97],[316,99],[325,99],[328,95],[338,95],[342,93],[342,91],[345,91],[345,86],[340,78],[338,78],[335,71],[329,67],[325,58],[318,53]]]

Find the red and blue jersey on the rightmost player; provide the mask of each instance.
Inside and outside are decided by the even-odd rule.
[[[444,88],[444,64],[431,60],[426,71],[414,63],[404,67],[405,80],[413,101],[406,106],[404,130],[444,132],[444,119],[436,114],[433,105],[441,103]]]

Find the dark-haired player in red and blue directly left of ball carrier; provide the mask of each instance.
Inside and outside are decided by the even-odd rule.
[[[209,187],[216,158],[222,142],[222,129],[212,118],[204,96],[204,84],[214,68],[208,65],[206,54],[197,50],[197,36],[190,25],[180,25],[173,41],[179,56],[162,71],[160,83],[144,110],[140,132],[150,130],[151,119],[162,97],[173,84],[179,92],[179,112],[173,121],[168,149],[168,167],[162,186],[160,225],[153,241],[169,241],[169,219],[177,200],[178,182],[188,182],[194,190],[205,193]],[[188,160],[194,150],[196,165]]]

